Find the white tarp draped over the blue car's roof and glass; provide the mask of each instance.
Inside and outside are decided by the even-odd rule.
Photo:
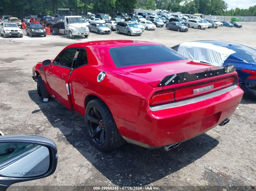
[[[180,44],[178,53],[194,62],[206,62],[214,66],[222,66],[228,56],[235,51],[210,43],[186,42]]]

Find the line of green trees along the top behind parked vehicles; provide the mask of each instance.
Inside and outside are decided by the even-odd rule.
[[[211,14],[224,16],[256,16],[256,5],[248,9],[227,10],[224,0],[1,0],[0,14],[22,17],[37,14],[56,14],[58,8],[70,8],[75,14],[87,12],[132,12],[134,8],[162,9],[186,14]]]

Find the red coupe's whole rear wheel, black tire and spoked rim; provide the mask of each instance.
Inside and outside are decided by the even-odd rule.
[[[85,126],[91,144],[100,151],[109,151],[125,143],[110,110],[100,99],[87,104]]]

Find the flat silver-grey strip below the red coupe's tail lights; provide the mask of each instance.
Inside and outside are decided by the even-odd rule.
[[[191,103],[196,103],[196,102],[199,102],[199,101],[207,100],[207,99],[210,99],[212,97],[219,96],[221,94],[225,94],[225,93],[227,93],[231,90],[234,90],[235,88],[237,88],[237,84],[234,84],[234,85],[229,86],[227,88],[223,88],[221,90],[217,90],[217,91],[214,91],[214,92],[211,92],[211,93],[208,93],[208,94],[193,97],[193,98],[190,98],[190,99],[176,101],[176,102],[173,102],[173,103],[157,105],[157,106],[150,106],[149,109],[151,111],[159,111],[159,110],[171,109],[171,108],[174,108],[174,107],[180,107],[180,106],[188,105],[188,104],[191,104]]]

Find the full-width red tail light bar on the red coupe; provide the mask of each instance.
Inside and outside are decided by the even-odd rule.
[[[191,97],[196,97],[202,94],[207,94],[213,91],[227,88],[234,84],[234,77],[224,78],[218,81],[207,82],[203,84],[195,84],[192,86],[175,88],[172,91],[165,91],[153,94],[149,99],[149,105],[159,105],[174,101],[184,100]]]

